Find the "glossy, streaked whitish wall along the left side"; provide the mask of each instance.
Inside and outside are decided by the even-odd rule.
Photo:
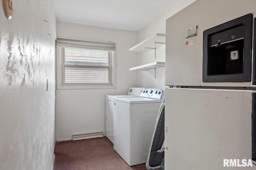
[[[12,4],[13,17],[7,20],[0,3],[0,169],[50,170],[54,160],[54,3],[13,0]]]

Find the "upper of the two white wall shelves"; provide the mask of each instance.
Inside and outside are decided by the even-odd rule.
[[[165,34],[156,33],[154,36],[149,37],[130,48],[129,51],[148,52],[163,45],[165,45]]]

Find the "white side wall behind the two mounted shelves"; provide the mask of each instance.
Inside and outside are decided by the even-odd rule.
[[[190,5],[195,0],[178,0],[172,8],[166,11],[161,16],[150,22],[138,32],[138,42],[151,37],[155,33],[164,33],[166,30],[166,19],[176,14],[186,6]],[[155,61],[165,62],[165,45],[156,49],[156,59],[154,50],[147,53],[138,53],[138,64],[148,64]],[[154,78],[154,70],[138,72],[138,86],[149,88],[165,88],[165,68],[156,69],[156,79]]]

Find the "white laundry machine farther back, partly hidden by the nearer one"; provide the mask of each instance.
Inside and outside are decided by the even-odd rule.
[[[114,143],[114,98],[140,96],[144,88],[131,87],[127,94],[106,95],[106,137]]]

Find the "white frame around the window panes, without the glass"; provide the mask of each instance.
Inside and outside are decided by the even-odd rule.
[[[79,40],[82,41],[82,40]],[[67,48],[75,48],[74,46]],[[79,49],[83,49],[78,47]],[[108,51],[109,66],[82,66],[65,64],[65,47],[58,46],[56,43],[56,88],[57,89],[110,89],[116,88],[116,56],[115,51]],[[109,68],[109,83],[65,83],[65,66],[74,67],[92,67],[92,68]]]

